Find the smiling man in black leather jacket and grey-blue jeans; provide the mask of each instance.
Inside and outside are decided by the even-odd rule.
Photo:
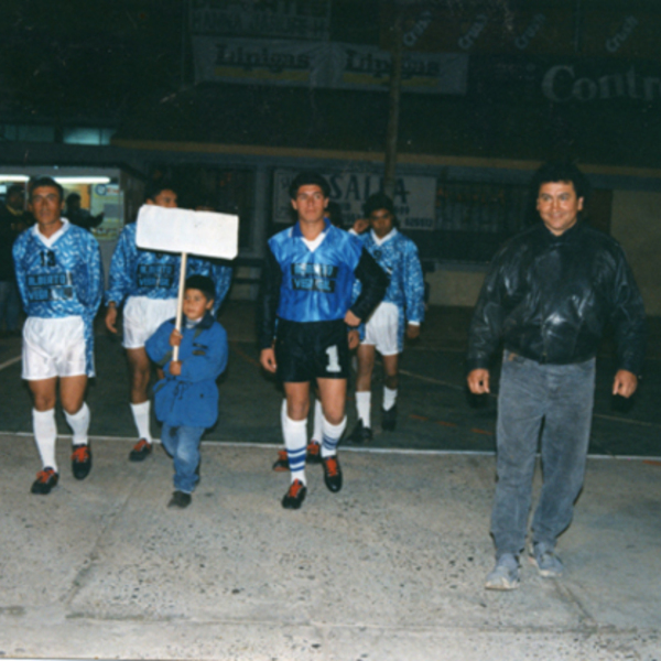
[[[549,163],[535,174],[533,189],[542,223],[497,253],[469,332],[473,393],[489,392],[489,361],[501,340],[505,345],[490,589],[519,585],[542,420],[544,483],[530,560],[542,576],[562,574],[555,543],[583,486],[604,326],[613,324],[617,343],[614,394],[633,394],[644,353],[644,308],[625,254],[617,241],[579,220],[587,189],[583,174],[571,164]]]

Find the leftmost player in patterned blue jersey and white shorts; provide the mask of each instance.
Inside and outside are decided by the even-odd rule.
[[[32,424],[43,469],[33,494],[50,494],[59,479],[55,460],[55,401],[74,432],[72,469],[85,479],[91,468],[85,403],[94,377],[93,322],[101,302],[99,246],[86,230],[62,218],[62,186],[51,177],[33,182],[30,210],[36,225],[14,242],[17,283],[28,314],[23,327],[23,379],[34,401]]]

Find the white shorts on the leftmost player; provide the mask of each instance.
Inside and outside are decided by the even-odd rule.
[[[23,326],[23,370],[28,381],[87,373],[83,317],[28,317]]]

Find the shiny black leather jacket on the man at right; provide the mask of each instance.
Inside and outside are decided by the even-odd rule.
[[[615,328],[618,369],[640,375],[644,307],[619,243],[577,223],[560,237],[539,224],[495,257],[469,330],[468,370],[505,348],[541,364],[593,358]]]

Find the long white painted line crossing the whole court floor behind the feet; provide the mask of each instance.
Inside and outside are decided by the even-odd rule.
[[[25,436],[32,437],[32,434],[28,432],[0,432],[0,436]],[[68,434],[58,434],[58,438],[72,440],[73,436]],[[89,436],[90,441],[95,443],[99,441],[110,442],[124,442],[130,443],[136,441],[134,436]],[[154,438],[154,443],[160,444],[160,438]],[[281,443],[245,443],[242,441],[203,441],[202,445],[216,445],[220,447],[251,447],[257,449],[282,449]],[[408,449],[401,447],[356,447],[356,446],[343,446],[342,452],[355,452],[364,454],[394,454],[394,455],[413,455],[413,456],[483,456],[492,457],[496,455],[496,451],[492,449]],[[539,453],[538,453],[539,456]],[[639,456],[639,455],[599,455],[588,454],[590,459],[617,459],[622,462],[660,462],[661,457],[655,456]],[[7,661],[7,660],[4,660]]]

